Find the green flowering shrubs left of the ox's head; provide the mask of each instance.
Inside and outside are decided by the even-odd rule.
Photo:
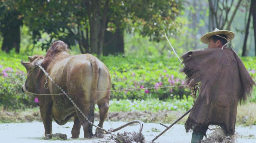
[[[0,106],[7,109],[20,109],[34,107],[34,96],[21,92],[25,83],[26,72],[21,66],[21,60],[26,60],[26,55],[0,52]]]

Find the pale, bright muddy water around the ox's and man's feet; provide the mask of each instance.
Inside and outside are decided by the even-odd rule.
[[[124,122],[111,122],[113,128],[119,127]],[[98,124],[98,122],[95,122]],[[167,124],[169,125],[169,124]],[[70,139],[71,137],[71,128],[73,126],[72,122],[60,126],[53,122],[53,133],[62,133],[67,134],[68,140],[43,140],[44,137],[44,128],[43,123],[33,122],[33,123],[10,123],[10,124],[0,124],[0,142],[1,143],[102,143],[102,142],[113,142],[108,137],[104,139],[92,138],[92,139],[83,139],[83,131],[81,129],[79,139]],[[110,124],[105,122],[104,128],[109,129]],[[211,127],[213,128],[213,127]],[[146,138],[146,142],[150,142],[155,136],[164,130],[165,127],[155,123],[145,123],[143,127],[143,135]],[[131,125],[122,130],[132,132],[138,131],[139,125]],[[236,127],[236,131],[239,136],[236,138],[236,143],[256,143],[256,126],[252,127]],[[95,132],[95,128],[94,128]],[[213,131],[208,131],[207,134]],[[165,134],[159,137],[156,142],[158,143],[189,143],[191,141],[191,133],[186,133],[184,125],[174,125],[170,130]]]

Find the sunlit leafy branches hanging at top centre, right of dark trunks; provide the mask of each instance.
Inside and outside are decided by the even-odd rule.
[[[124,5],[128,9],[125,22],[129,25],[129,31],[148,36],[151,41],[159,42],[164,39],[164,33],[168,36],[179,34],[184,24],[182,20],[176,19],[183,9],[182,1],[128,0],[125,2]]]

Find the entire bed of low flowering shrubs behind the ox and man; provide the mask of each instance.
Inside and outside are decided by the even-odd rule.
[[[27,55],[0,52],[0,106],[4,106],[4,108],[36,106],[34,96],[20,92],[21,85],[25,82],[24,73],[26,73],[25,68],[20,64],[21,60],[27,61]],[[141,89],[112,92],[111,98],[113,100],[131,99],[138,102],[155,98],[175,102],[176,99],[182,99],[180,102],[183,102],[184,96],[188,100],[190,98],[191,92],[186,86],[161,88],[163,86],[185,85],[185,76],[179,72],[183,66],[176,57],[136,57],[134,55],[123,57],[118,55],[101,57],[100,60],[106,64],[110,71],[112,90]],[[243,57],[242,60],[255,80],[256,58]],[[142,89],[151,87],[154,89]],[[122,100],[122,102],[124,101],[126,100]],[[249,101],[256,102],[255,90]]]

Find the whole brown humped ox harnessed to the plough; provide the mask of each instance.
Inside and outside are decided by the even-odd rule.
[[[49,73],[49,76],[67,93],[74,103],[93,123],[95,103],[100,109],[99,127],[107,117],[110,92],[94,92],[110,90],[110,74],[107,67],[91,54],[71,56],[67,53],[67,45],[63,41],[56,41],[47,51],[45,57],[34,55],[30,62],[21,62],[27,69],[28,76],[22,89],[36,94],[58,94],[61,91],[49,80],[49,88],[44,86],[46,76],[36,63]],[[82,92],[82,93],[81,93]],[[90,92],[90,93],[88,93]],[[78,138],[81,125],[84,137],[92,137],[92,125],[73,106],[68,98],[62,95],[38,95],[40,113],[45,127],[45,134],[52,133],[52,118],[59,125],[64,125],[74,117],[71,131],[72,138]],[[96,136],[103,137],[103,131],[96,129]]]

